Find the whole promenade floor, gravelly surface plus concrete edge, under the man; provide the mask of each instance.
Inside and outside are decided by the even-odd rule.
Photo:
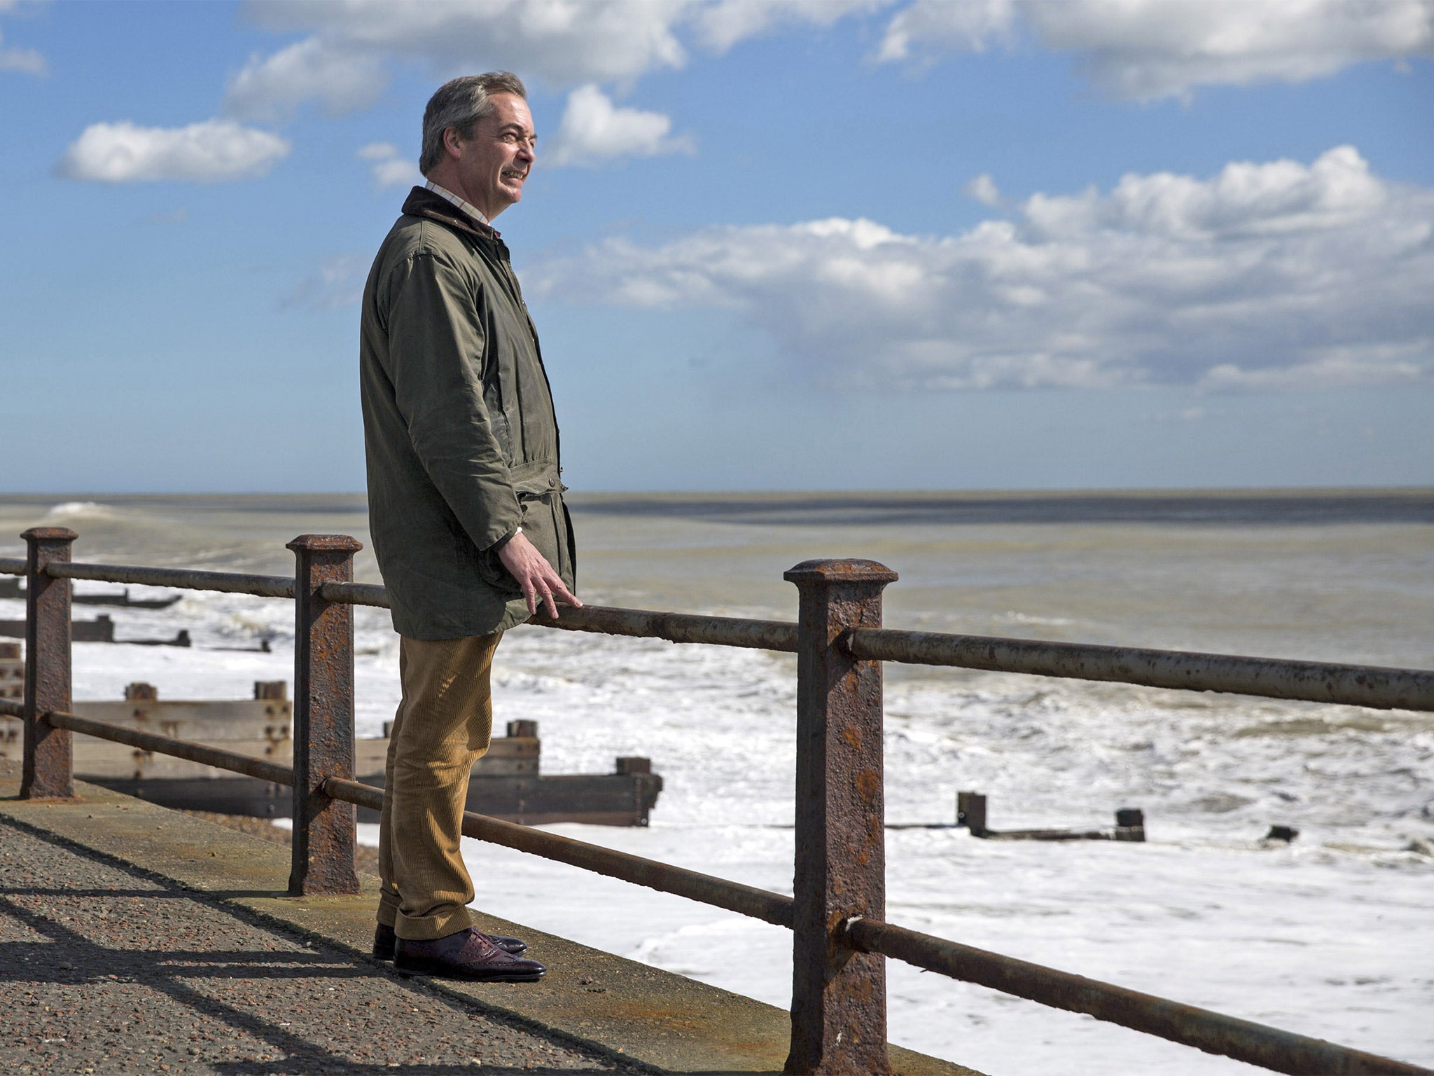
[[[367,955],[371,877],[291,898],[280,845],[82,782],[17,791],[0,762],[0,1072],[782,1070],[780,1009],[496,918],[541,983],[404,978]]]

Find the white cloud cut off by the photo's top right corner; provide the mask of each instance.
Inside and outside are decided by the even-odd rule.
[[[1434,0],[915,0],[888,24],[876,59],[979,52],[1021,30],[1074,53],[1111,93],[1152,100],[1434,55]]]

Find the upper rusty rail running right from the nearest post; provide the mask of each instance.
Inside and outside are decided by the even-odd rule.
[[[1434,671],[1420,669],[862,627],[849,630],[842,646],[852,657],[863,661],[1116,680],[1147,687],[1233,692],[1381,710],[1434,710]]]

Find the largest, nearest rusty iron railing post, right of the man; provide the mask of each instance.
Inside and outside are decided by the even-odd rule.
[[[886,914],[882,666],[840,648],[852,627],[880,627],[875,561],[804,561],[799,591],[797,816],[792,1052],[786,1072],[889,1073],[886,964],[846,940],[853,917]]]

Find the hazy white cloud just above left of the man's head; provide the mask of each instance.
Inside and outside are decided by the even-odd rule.
[[[328,115],[337,116],[373,105],[387,82],[383,63],[373,53],[308,37],[267,59],[251,56],[229,79],[224,110],[241,119],[277,121],[293,115],[305,100],[318,100]]]

